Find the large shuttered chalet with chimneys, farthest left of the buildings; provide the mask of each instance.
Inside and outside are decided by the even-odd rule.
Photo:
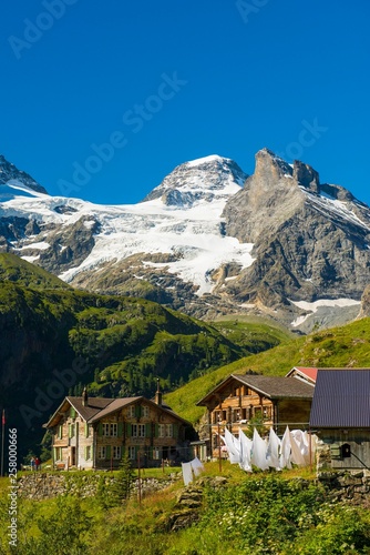
[[[52,431],[55,468],[117,468],[126,453],[133,466],[160,466],[188,460],[191,424],[143,396],[124,398],[68,396],[44,427]]]

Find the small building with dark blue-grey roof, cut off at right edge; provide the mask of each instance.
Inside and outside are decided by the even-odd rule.
[[[318,369],[310,427],[331,467],[370,470],[370,369]]]

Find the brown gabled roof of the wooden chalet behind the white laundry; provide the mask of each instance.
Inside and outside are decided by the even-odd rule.
[[[205,397],[198,401],[197,405],[206,405],[212,396],[220,392],[230,382],[237,381],[247,385],[250,390],[271,400],[278,398],[311,398],[314,387],[308,383],[295,380],[292,377],[281,376],[261,376],[249,374],[230,374],[226,380],[212,390]]]

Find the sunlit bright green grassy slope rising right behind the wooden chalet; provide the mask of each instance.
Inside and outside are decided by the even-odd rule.
[[[229,374],[253,370],[260,374],[284,376],[292,366],[370,366],[370,319],[300,336],[233,362],[168,393],[165,401],[184,418],[195,423],[205,412],[204,407],[195,406],[197,401]]]

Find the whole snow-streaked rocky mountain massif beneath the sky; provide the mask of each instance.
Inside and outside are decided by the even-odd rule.
[[[370,283],[369,206],[268,149],[250,176],[210,155],[117,206],[50,196],[0,164],[0,249],[81,289],[308,332],[353,320]]]

